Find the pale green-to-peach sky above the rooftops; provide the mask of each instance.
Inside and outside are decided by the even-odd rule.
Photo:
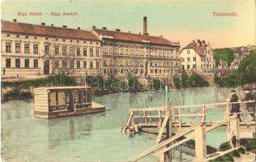
[[[92,30],[92,26],[119,28],[122,32],[139,33],[143,32],[143,16],[147,16],[147,32],[152,36],[180,41],[181,48],[191,40],[206,40],[215,49],[256,45],[255,8],[254,0],[3,1],[1,19],[85,30]],[[28,15],[30,12],[42,15]],[[78,15],[53,16],[51,12]],[[234,12],[237,16],[214,16],[213,12]]]

